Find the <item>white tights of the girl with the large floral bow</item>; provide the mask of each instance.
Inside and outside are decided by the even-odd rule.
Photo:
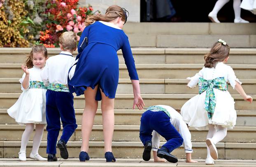
[[[209,124],[208,125],[209,131],[207,134],[207,138],[212,138],[212,141],[214,142],[214,144],[223,140],[223,138],[226,137],[227,130],[228,130],[227,128],[223,128],[221,125],[216,125],[215,127],[213,124]],[[207,147],[207,158],[212,158],[208,147]]]

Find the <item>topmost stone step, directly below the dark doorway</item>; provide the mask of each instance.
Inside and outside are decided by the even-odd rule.
[[[167,28],[168,27],[168,28]],[[256,23],[133,23],[123,27],[126,34],[150,35],[251,35],[256,34]]]

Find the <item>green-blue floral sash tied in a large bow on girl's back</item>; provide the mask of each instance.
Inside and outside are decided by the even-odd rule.
[[[198,82],[199,94],[203,93],[206,90],[205,96],[205,110],[208,112],[208,118],[212,118],[214,113],[214,109],[216,106],[216,99],[213,88],[217,88],[219,90],[227,90],[228,84],[224,77],[218,77],[211,80],[205,80],[203,78],[199,78]]]

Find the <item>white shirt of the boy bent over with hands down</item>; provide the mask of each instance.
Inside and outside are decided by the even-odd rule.
[[[191,142],[191,133],[180,115],[174,108],[165,105],[157,105],[165,108],[170,113],[170,122],[171,124],[179,131],[179,134],[183,138],[183,147],[186,153],[192,153],[192,142]],[[156,131],[153,131],[152,134],[152,150],[157,151],[160,145],[160,135]],[[156,148],[156,149],[154,149]]]

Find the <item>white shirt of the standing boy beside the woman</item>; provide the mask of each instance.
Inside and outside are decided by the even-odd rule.
[[[70,52],[62,51],[56,56],[52,56],[46,61],[46,65],[41,72],[42,81],[46,86],[49,83],[60,83],[67,85],[68,70],[73,65],[75,58]]]

